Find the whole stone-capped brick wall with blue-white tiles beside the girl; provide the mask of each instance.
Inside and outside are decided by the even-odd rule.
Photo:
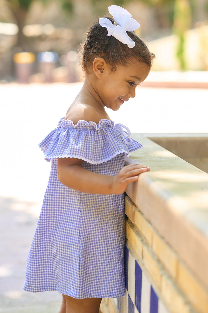
[[[126,190],[126,294],[102,313],[208,313],[208,175],[144,136],[126,161],[150,172]]]

